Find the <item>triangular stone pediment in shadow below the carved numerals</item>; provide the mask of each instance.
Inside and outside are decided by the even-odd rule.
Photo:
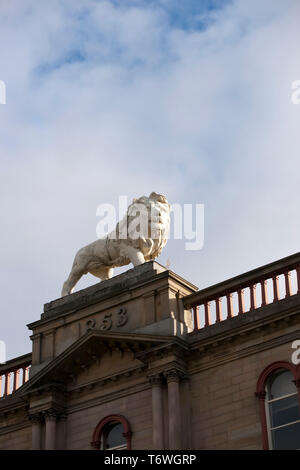
[[[90,330],[30,378],[16,394],[26,396],[48,385],[67,385],[75,376],[82,377],[88,368],[98,367],[103,377],[130,370],[143,364],[139,359],[141,355],[168,346],[174,340],[176,338],[170,336]],[[110,357],[114,358],[111,368]],[[101,362],[103,370],[99,367]]]

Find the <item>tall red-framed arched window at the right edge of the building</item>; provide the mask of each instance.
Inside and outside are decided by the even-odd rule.
[[[299,372],[282,361],[268,366],[259,377],[256,395],[264,449],[300,449]]]

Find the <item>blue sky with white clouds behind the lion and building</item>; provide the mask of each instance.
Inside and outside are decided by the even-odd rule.
[[[200,288],[299,251],[299,18],[299,0],[1,0],[8,358],[119,195],[205,205],[204,247],[158,259]]]

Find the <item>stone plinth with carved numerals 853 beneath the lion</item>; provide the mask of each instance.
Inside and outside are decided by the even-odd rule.
[[[181,298],[197,290],[185,279],[149,261],[112,279],[44,305],[32,330],[31,376],[89,329],[184,336],[192,330]]]

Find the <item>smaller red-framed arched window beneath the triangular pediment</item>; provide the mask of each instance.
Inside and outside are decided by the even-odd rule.
[[[130,450],[131,436],[127,419],[121,415],[110,415],[97,424],[91,445],[98,450]]]

